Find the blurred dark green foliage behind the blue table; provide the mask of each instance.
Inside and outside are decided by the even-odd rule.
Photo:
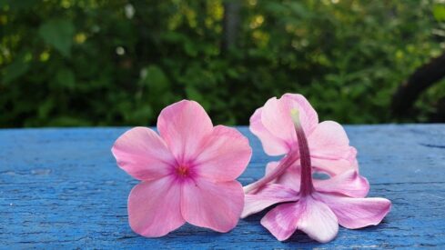
[[[398,86],[445,48],[445,2],[0,0],[0,126],[154,125],[180,99],[247,125],[271,96],[320,120],[430,122],[445,81],[405,117]],[[445,67],[445,65],[444,65]]]

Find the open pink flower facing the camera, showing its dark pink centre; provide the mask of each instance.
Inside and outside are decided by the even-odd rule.
[[[159,135],[135,127],[112,152],[127,174],[142,182],[128,196],[128,220],[139,235],[158,237],[184,225],[228,232],[244,206],[236,178],[252,150],[236,129],[213,126],[204,108],[183,100],[157,119]]]

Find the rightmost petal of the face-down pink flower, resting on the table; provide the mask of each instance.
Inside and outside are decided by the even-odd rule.
[[[349,229],[378,225],[388,215],[391,202],[385,198],[351,198],[317,194],[337,215],[339,225]]]

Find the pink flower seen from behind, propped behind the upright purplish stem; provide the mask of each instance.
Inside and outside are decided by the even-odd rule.
[[[268,99],[250,117],[250,131],[258,136],[265,152],[285,156],[268,175],[246,186],[246,194],[299,171],[297,134],[289,115],[292,109],[298,110],[302,129],[308,135],[310,159],[316,171],[339,175],[350,169],[358,170],[357,150],[349,146],[343,127],[333,121],[319,123],[319,116],[303,95],[285,94],[279,99]]]

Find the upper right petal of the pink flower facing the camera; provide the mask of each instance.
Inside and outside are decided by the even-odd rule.
[[[235,128],[217,125],[194,162],[199,175],[232,181],[241,175],[252,155],[248,138]]]

